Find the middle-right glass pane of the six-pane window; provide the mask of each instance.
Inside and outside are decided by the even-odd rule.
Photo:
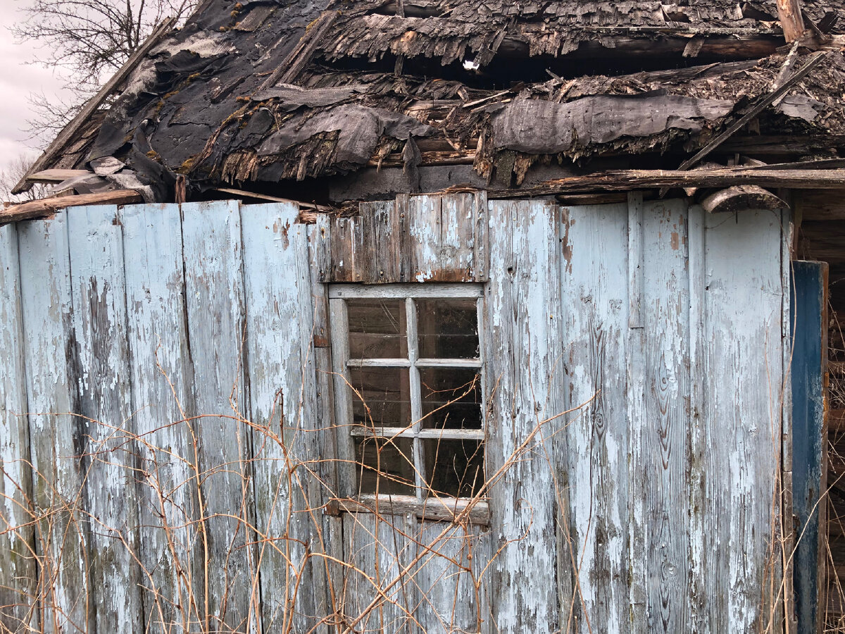
[[[420,368],[423,429],[481,429],[481,376],[472,368]]]

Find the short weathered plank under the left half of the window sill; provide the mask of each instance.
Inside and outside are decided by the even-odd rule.
[[[374,513],[343,516],[344,572],[341,609],[356,631],[416,632],[413,560],[417,518]],[[411,537],[409,537],[411,536]]]

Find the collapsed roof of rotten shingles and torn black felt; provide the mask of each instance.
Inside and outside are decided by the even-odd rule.
[[[793,56],[823,47],[825,63],[746,128],[756,150],[724,151],[838,156],[841,8],[803,3],[811,36]],[[180,175],[193,196],[236,184],[344,199],[367,192],[343,175],[374,169],[386,192],[425,189],[426,167],[514,188],[543,166],[677,167],[771,91],[784,43],[769,0],[208,0],[37,168],[167,200]]]

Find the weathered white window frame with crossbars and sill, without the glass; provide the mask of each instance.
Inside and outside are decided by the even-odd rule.
[[[404,299],[406,309],[407,358],[365,358],[352,359],[349,353],[349,320],[347,299]],[[478,358],[419,358],[417,356],[417,309],[416,299],[474,299],[477,307]],[[470,504],[472,498],[454,498],[444,495],[429,496],[425,483],[425,456],[423,440],[479,440],[484,451],[486,464],[487,436],[487,394],[485,390],[484,359],[484,292],[479,283],[433,283],[425,284],[332,284],[329,287],[330,335],[332,371],[335,374],[335,423],[338,433],[340,459],[341,495],[347,500],[356,500],[355,511],[378,511],[380,513],[416,513],[420,518],[448,520],[455,517]],[[350,368],[401,368],[410,373],[410,400],[412,425],[409,428],[381,428],[379,434],[363,429],[353,421],[352,396],[349,389]],[[481,381],[481,429],[422,429],[423,396],[421,394],[421,368],[473,368],[477,369]],[[413,441],[413,461],[416,472],[416,495],[372,494],[358,495],[355,469],[354,437],[374,435],[379,438],[406,438]],[[473,523],[488,523],[487,500],[476,500],[468,518]]]

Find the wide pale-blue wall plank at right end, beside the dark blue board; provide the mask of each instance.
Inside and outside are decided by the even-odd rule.
[[[707,553],[716,592],[708,594],[720,631],[752,631],[770,624],[761,604],[777,593],[772,552],[777,526],[777,479],[784,394],[782,317],[788,288],[782,279],[782,217],[750,211],[730,221],[705,218],[702,425],[709,454],[704,495],[715,549]],[[774,571],[774,572],[772,572]],[[767,576],[768,575],[768,576]],[[774,578],[771,578],[774,575]]]

